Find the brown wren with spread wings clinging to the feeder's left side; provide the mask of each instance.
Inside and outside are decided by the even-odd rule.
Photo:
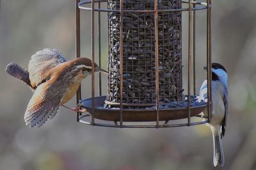
[[[95,72],[106,72],[96,64],[94,66]],[[30,127],[41,127],[49,118],[54,118],[60,105],[67,107],[63,104],[74,97],[81,81],[91,75],[92,60],[76,58],[66,61],[60,51],[43,49],[31,56],[28,70],[10,63],[6,66],[6,72],[35,91],[29,100],[24,120]],[[84,112],[78,106],[67,108]]]

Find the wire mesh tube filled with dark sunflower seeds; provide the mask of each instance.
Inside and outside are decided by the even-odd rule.
[[[120,1],[108,1],[111,10]],[[125,1],[124,10],[154,10],[154,1]],[[159,9],[179,9],[181,1],[161,1]],[[154,13],[123,15],[123,104],[156,104]],[[108,105],[120,104],[120,13],[109,13]],[[182,101],[181,12],[158,15],[159,102]]]

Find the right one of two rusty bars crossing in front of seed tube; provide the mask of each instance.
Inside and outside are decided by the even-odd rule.
[[[155,50],[156,50],[156,127],[159,127],[159,55],[158,55],[158,0],[155,0]]]

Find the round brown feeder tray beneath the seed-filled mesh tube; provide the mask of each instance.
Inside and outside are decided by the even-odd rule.
[[[106,97],[95,97],[94,118],[106,121],[120,121],[120,108],[104,108]],[[80,103],[88,112],[92,112],[92,98],[81,100]],[[191,106],[191,117],[200,114],[207,103]],[[159,109],[159,121],[179,120],[188,118],[188,107]],[[156,121],[156,110],[123,109],[123,121]]]

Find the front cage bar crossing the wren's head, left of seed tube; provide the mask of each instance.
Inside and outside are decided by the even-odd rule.
[[[95,56],[94,56],[94,0],[92,0],[92,125],[94,125],[94,107],[95,107]]]

